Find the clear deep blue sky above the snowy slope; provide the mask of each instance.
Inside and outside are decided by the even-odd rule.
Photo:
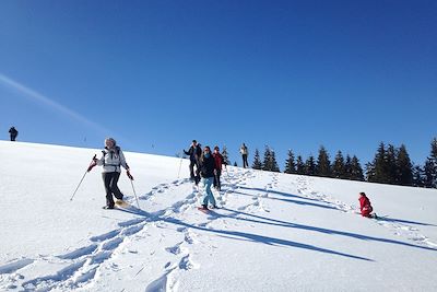
[[[437,1],[0,1],[0,130],[175,155],[192,139],[364,165],[437,136]]]

